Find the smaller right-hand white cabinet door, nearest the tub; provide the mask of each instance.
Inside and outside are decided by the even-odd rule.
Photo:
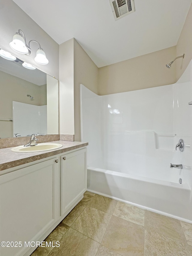
[[[78,203],[86,189],[86,149],[61,156],[61,216]]]

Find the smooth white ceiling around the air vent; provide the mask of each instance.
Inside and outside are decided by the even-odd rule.
[[[58,44],[75,38],[98,67],[175,46],[192,0],[134,0],[115,21],[109,0],[13,0]]]

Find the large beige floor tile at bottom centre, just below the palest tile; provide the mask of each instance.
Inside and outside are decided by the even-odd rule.
[[[143,256],[144,227],[112,216],[102,245],[123,256]]]

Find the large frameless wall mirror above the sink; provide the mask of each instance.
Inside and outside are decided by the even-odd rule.
[[[58,80],[22,63],[0,56],[0,138],[58,134]]]

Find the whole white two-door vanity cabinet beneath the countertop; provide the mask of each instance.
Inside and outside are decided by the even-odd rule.
[[[17,246],[7,243],[0,255],[27,256],[35,250],[34,242],[43,241],[82,199],[86,167],[84,147],[0,175],[0,242]],[[26,246],[28,242],[32,246]]]

